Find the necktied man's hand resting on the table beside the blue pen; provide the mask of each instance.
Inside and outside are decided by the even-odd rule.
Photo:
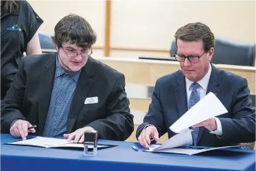
[[[148,145],[151,143],[151,138],[153,138],[156,142],[160,141],[159,134],[154,126],[148,126],[146,129],[144,129],[141,132],[138,140],[142,147],[148,148]]]

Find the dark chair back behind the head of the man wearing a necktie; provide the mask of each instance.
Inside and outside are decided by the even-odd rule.
[[[175,42],[172,43],[170,56],[176,52]],[[238,43],[224,38],[215,39],[213,64],[254,66],[255,43]]]

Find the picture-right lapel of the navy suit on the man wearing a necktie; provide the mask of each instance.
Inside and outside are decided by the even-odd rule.
[[[210,76],[210,79],[209,79],[206,94],[208,94],[209,92],[212,92],[218,97],[218,95],[220,93],[220,90],[218,88],[219,85],[220,85],[220,80],[219,80],[219,77],[218,77],[218,71],[217,71],[216,67],[212,65],[212,72],[211,72],[211,76]],[[200,138],[201,138],[202,134],[204,133],[205,129],[206,129],[205,127],[200,127],[199,128],[197,144],[199,143]]]

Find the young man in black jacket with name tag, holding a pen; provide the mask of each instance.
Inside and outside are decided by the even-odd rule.
[[[96,130],[99,139],[126,140],[134,124],[124,75],[90,57],[96,34],[89,23],[65,16],[52,40],[57,53],[22,59],[1,103],[1,133],[82,143],[85,131]]]

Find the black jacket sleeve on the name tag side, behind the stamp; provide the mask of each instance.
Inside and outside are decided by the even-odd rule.
[[[88,125],[98,131],[99,139],[124,141],[134,131],[133,115],[130,114],[130,102],[124,86],[125,78],[120,74],[107,102],[107,117],[95,120]]]

